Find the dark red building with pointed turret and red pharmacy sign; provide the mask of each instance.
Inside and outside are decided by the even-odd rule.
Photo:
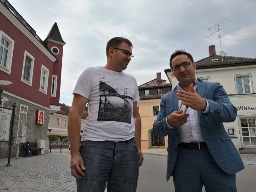
[[[65,42],[57,23],[42,41],[7,1],[0,0],[0,158],[22,155],[20,143],[47,140],[49,113],[60,110],[62,54]],[[8,81],[12,84],[5,84]],[[6,108],[16,104],[13,135],[6,126]],[[44,146],[45,148],[45,146]],[[16,154],[16,155],[17,155]]]

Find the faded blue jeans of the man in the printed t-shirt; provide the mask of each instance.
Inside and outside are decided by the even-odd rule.
[[[121,141],[82,141],[80,154],[85,176],[77,179],[78,192],[136,192],[139,175],[134,138]]]

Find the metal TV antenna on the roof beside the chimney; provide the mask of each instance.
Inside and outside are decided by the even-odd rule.
[[[220,22],[218,22],[217,24],[211,26],[208,31],[210,32],[209,35],[207,35],[205,38],[209,38],[211,35],[213,35],[214,33],[218,32],[219,34],[219,40],[220,40],[220,46],[221,46],[221,34],[220,34],[220,30],[231,25],[232,23],[235,23],[236,21],[238,21],[239,19],[236,18],[236,20],[229,20],[229,22],[227,23],[227,19],[229,17],[231,17],[232,15],[229,15],[227,16],[224,20],[221,20]],[[221,52],[220,52],[220,55],[222,56],[222,60],[223,60],[223,57],[226,55],[227,53],[225,53],[224,51],[222,51],[222,48],[221,48]]]

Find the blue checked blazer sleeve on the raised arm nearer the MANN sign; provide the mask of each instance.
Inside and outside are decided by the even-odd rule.
[[[211,118],[217,122],[233,122],[236,119],[236,108],[228,99],[227,93],[221,84],[216,83],[215,87],[211,89],[213,92],[213,97],[207,99],[209,103],[209,113],[203,114],[208,118]]]

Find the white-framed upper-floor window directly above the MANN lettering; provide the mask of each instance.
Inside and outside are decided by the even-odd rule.
[[[237,94],[253,93],[251,74],[234,75]]]

